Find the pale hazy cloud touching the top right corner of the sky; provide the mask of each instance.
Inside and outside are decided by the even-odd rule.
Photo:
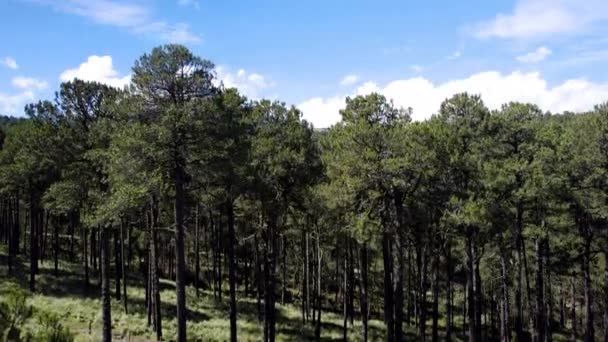
[[[530,38],[580,32],[608,19],[606,0],[517,0],[512,13],[499,13],[473,28],[478,38]]]

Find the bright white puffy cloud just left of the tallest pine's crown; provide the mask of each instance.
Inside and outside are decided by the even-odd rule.
[[[96,81],[116,88],[122,88],[131,82],[131,75],[120,76],[118,71],[114,70],[111,56],[89,56],[87,61],[77,68],[65,70],[59,76],[63,82],[74,78]]]

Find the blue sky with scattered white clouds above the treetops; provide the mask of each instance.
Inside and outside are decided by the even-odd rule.
[[[552,111],[608,100],[608,1],[3,0],[0,113],[62,80],[114,86],[154,46],[182,43],[251,98],[317,127],[346,96],[383,93],[415,119],[454,92]]]

